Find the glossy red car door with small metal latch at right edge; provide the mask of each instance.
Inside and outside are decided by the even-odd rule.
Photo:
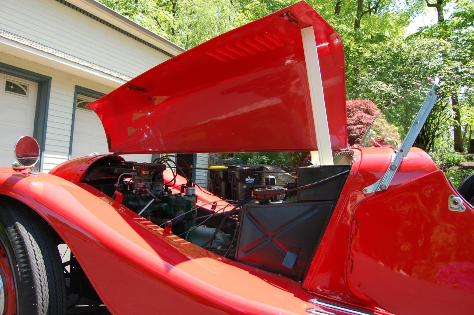
[[[395,314],[433,306],[438,314],[473,313],[474,209],[449,210],[453,194],[436,171],[356,208],[347,279],[357,297]]]

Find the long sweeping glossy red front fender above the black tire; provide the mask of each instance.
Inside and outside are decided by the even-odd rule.
[[[208,252],[83,183],[0,168],[0,194],[63,238],[113,314],[305,314],[301,284]]]

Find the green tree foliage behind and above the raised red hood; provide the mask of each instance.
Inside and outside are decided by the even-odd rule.
[[[189,49],[296,0],[100,0],[157,34]],[[348,99],[379,109],[401,91],[439,75],[439,99],[416,145],[464,151],[474,111],[474,1],[307,0],[341,36]],[[454,9],[447,12],[448,4]],[[407,36],[413,18],[436,10],[438,20]],[[387,113],[406,133],[412,110]],[[392,117],[390,117],[392,115]],[[353,125],[354,126],[354,125]],[[352,127],[353,127],[352,126]],[[355,129],[356,130],[356,129]],[[358,132],[358,131],[357,131]],[[358,135],[358,134],[357,134]],[[355,135],[356,136],[356,135]],[[352,138],[351,138],[352,139]],[[447,140],[446,140],[447,139]],[[352,140],[351,140],[352,141]]]

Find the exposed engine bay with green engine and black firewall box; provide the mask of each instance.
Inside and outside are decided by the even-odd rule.
[[[85,182],[164,228],[164,233],[232,260],[295,280],[304,278],[352,164],[297,169],[284,186],[247,184],[242,199],[227,200],[192,181],[192,167],[165,155],[153,163],[108,155],[87,170]],[[178,172],[181,175],[178,175]]]

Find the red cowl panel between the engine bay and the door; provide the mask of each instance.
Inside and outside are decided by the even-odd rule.
[[[303,288],[321,297],[329,297],[347,304],[364,305],[370,308],[382,307],[377,300],[367,300],[357,296],[347,285],[346,271],[348,264],[351,263],[349,253],[354,213],[357,207],[368,198],[385,193],[385,196],[396,196],[402,184],[437,172],[438,168],[427,153],[413,147],[408,156],[403,159],[389,189],[382,193],[364,194],[362,189],[383,176],[390,165],[394,151],[389,147],[357,148],[353,151],[355,159],[351,172],[311,262],[306,279],[303,281]],[[381,200],[378,209],[382,210],[388,206],[386,202],[385,199]],[[381,228],[389,225],[383,218],[377,224]],[[393,255],[395,254],[396,252],[393,252]],[[379,289],[383,291],[383,286]],[[388,309],[388,311],[392,310]]]

